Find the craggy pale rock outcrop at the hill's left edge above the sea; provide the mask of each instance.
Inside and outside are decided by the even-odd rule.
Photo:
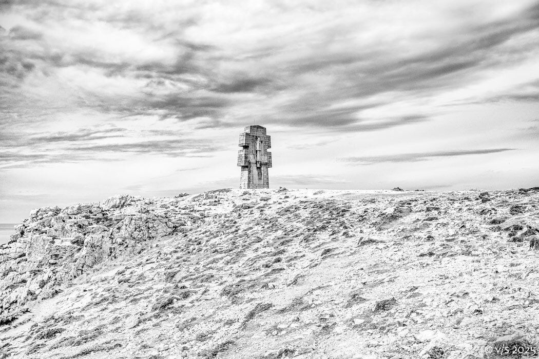
[[[32,210],[11,241],[0,245],[0,321],[23,312],[32,300],[51,297],[107,258],[140,252],[144,242],[184,226],[180,215],[130,195]]]

